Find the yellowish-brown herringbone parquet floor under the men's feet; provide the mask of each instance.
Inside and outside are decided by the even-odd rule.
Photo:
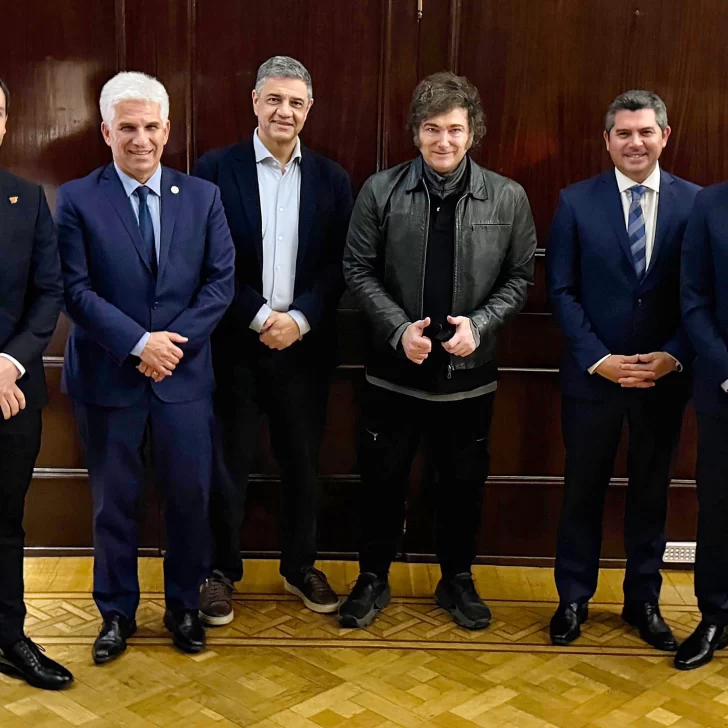
[[[282,593],[273,562],[254,562],[236,618],[208,649],[174,650],[161,624],[160,562],[145,560],[139,632],[94,667],[98,615],[90,560],[27,560],[28,632],[67,664],[61,694],[0,674],[0,726],[728,727],[728,659],[679,673],[619,618],[619,571],[602,574],[580,640],[548,643],[555,594],[543,569],[478,567],[493,610],[484,632],[455,627],[432,601],[435,567],[398,565],[395,600],[367,630],[341,630]],[[326,564],[344,592],[351,564]],[[697,621],[690,574],[669,572],[663,614],[678,637]]]

